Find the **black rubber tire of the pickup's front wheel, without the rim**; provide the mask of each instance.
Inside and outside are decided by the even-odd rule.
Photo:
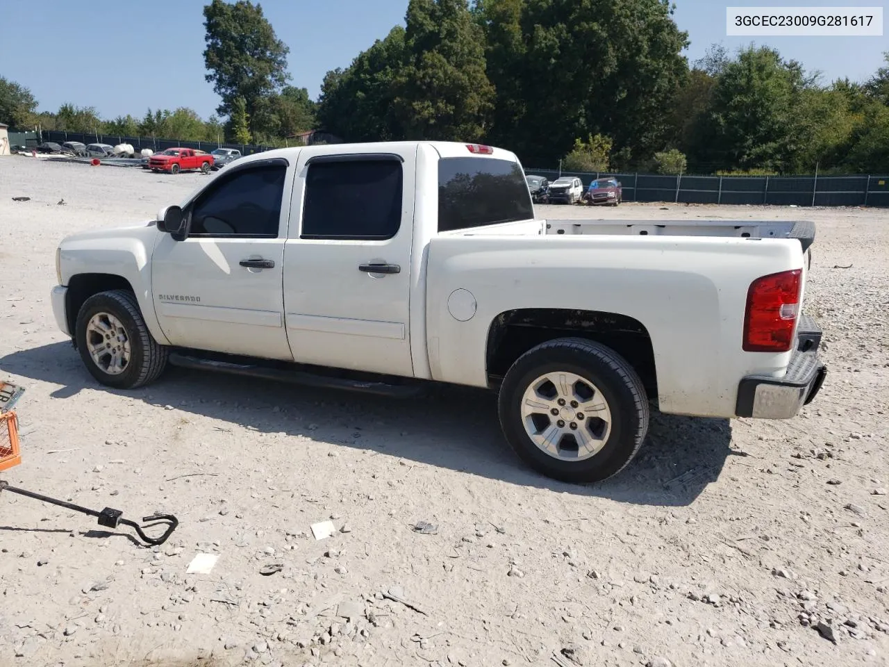
[[[87,350],[87,325],[94,315],[102,312],[120,320],[130,343],[130,358],[120,374],[106,373],[96,365]],[[154,382],[164,372],[169,354],[169,350],[156,342],[148,331],[136,296],[126,290],[100,292],[84,301],[77,313],[75,340],[80,358],[92,377],[116,389],[136,389]]]

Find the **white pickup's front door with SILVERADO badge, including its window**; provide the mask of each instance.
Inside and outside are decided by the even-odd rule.
[[[284,241],[294,165],[263,160],[220,174],[185,207],[188,232],[159,235],[152,293],[172,345],[291,360]]]

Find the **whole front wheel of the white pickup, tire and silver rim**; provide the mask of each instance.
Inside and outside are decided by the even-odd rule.
[[[168,350],[148,331],[132,292],[93,294],[77,313],[77,350],[101,384],[136,389],[164,372]]]

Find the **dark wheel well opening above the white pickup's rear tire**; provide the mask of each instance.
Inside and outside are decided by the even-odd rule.
[[[621,313],[559,308],[513,309],[493,318],[488,328],[485,369],[488,386],[498,390],[509,367],[528,350],[557,338],[599,342],[625,358],[657,397],[657,371],[651,335],[641,322]]]

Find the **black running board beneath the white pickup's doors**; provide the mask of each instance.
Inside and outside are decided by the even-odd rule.
[[[364,394],[387,396],[391,398],[411,398],[417,396],[422,390],[419,382],[390,384],[388,382],[354,380],[345,377],[332,377],[323,374],[308,373],[304,370],[298,370],[298,367],[292,369],[275,368],[271,366],[260,366],[259,364],[220,361],[217,359],[196,357],[182,352],[171,352],[169,360],[173,366],[180,366],[181,368],[246,375],[248,377],[260,378],[262,380],[289,382],[291,384],[301,384],[308,387],[318,387],[323,389],[358,391]]]

